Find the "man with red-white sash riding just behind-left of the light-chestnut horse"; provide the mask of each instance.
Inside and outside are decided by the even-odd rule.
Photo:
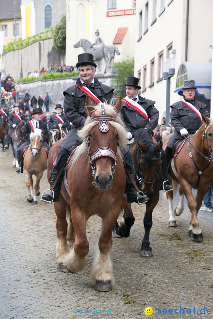
[[[20,106],[19,103],[16,103],[14,106],[14,111],[10,112],[8,115],[8,123],[10,124],[8,135],[6,137],[6,143],[7,145],[4,146],[4,148],[8,149],[9,144],[11,143],[11,135],[12,132],[15,130],[15,127],[21,122],[25,120],[25,115],[23,113],[19,112]]]

